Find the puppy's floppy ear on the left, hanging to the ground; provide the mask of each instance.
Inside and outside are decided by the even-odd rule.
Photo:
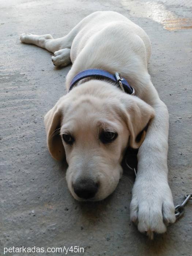
[[[47,134],[47,145],[49,153],[56,160],[62,160],[65,157],[65,149],[60,136],[61,118],[63,111],[59,104],[56,105],[46,113],[44,117],[45,130]]]

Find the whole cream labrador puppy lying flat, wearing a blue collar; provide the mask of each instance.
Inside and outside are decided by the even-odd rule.
[[[45,115],[45,128],[52,157],[67,159],[74,198],[109,196],[121,177],[125,149],[139,148],[131,220],[150,236],[165,232],[165,224],[175,221],[167,181],[169,114],[147,71],[147,34],[117,12],[99,11],[62,38],[22,34],[20,40],[54,53],[55,66],[72,62],[69,93]]]

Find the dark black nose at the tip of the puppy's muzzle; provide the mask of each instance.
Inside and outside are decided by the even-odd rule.
[[[77,180],[73,185],[75,194],[83,199],[90,199],[98,191],[98,183],[93,180]]]

